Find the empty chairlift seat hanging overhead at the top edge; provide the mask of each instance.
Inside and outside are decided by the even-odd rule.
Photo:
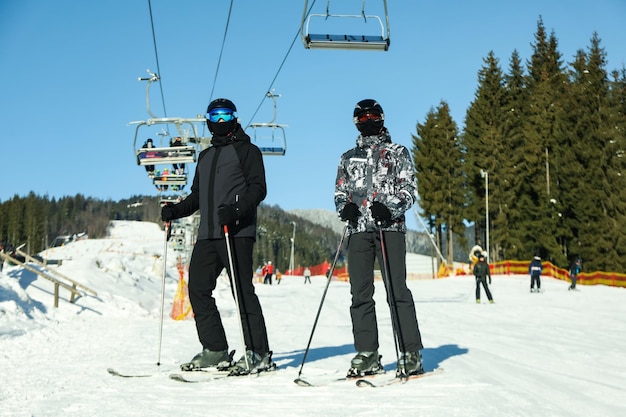
[[[355,50],[374,50],[387,51],[390,44],[389,31],[389,13],[387,12],[387,0],[382,0],[385,17],[384,22],[380,16],[365,14],[365,0],[361,3],[361,14],[331,14],[330,0],[326,4],[326,13],[310,13],[307,16],[309,1],[304,3],[304,13],[302,15],[302,23],[300,25],[300,36],[306,49],[355,49]],[[349,34],[319,34],[311,33],[311,20],[329,20],[342,22],[347,19],[363,19],[367,23],[368,19],[374,20],[380,26],[380,35],[349,35]]]

